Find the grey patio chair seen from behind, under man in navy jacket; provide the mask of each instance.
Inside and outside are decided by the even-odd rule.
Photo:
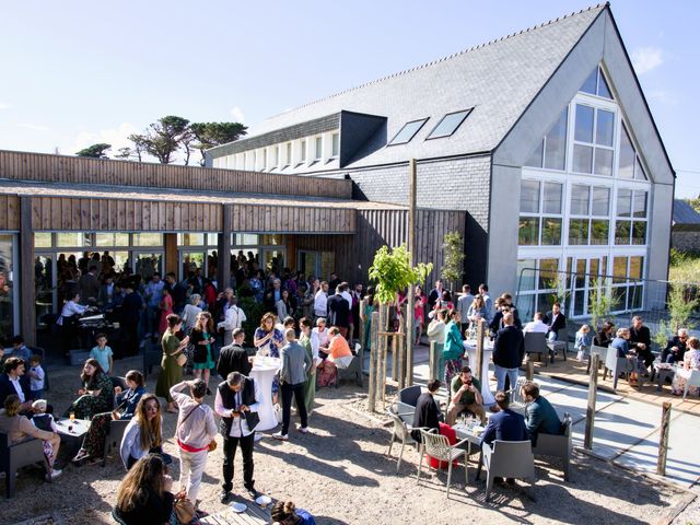
[[[486,501],[489,501],[493,489],[493,479],[528,478],[535,481],[535,456],[533,443],[527,441],[499,441],[481,445],[483,466],[487,470]],[[479,470],[480,470],[479,466]],[[478,479],[477,475],[477,479]]]

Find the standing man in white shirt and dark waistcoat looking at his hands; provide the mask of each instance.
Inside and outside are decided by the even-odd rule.
[[[261,399],[257,383],[241,374],[231,372],[226,381],[217,387],[214,411],[221,416],[219,430],[223,436],[223,483],[220,500],[229,501],[233,488],[233,460],[241,445],[243,454],[243,481],[252,499],[257,497],[253,479],[253,445],[255,428],[260,422],[258,407]]]

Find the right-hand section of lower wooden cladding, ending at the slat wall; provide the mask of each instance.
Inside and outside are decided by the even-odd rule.
[[[231,206],[234,232],[354,233],[355,210],[280,205]]]

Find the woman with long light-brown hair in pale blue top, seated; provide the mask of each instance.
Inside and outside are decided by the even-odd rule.
[[[119,455],[127,470],[147,454],[163,454],[163,412],[153,394],[141,397],[121,439]],[[170,456],[166,456],[170,458]],[[170,463],[170,462],[166,462]]]

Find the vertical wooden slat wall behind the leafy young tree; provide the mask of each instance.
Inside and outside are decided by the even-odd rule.
[[[354,235],[300,235],[298,249],[334,252],[336,267],[342,279],[366,283],[368,268],[376,250],[384,245],[395,247],[407,242],[408,212],[359,210],[357,221]],[[416,228],[416,260],[433,264],[433,271],[428,277],[428,285],[432,285],[444,264],[443,237],[445,233],[455,231],[464,237],[465,212],[418,210]]]

